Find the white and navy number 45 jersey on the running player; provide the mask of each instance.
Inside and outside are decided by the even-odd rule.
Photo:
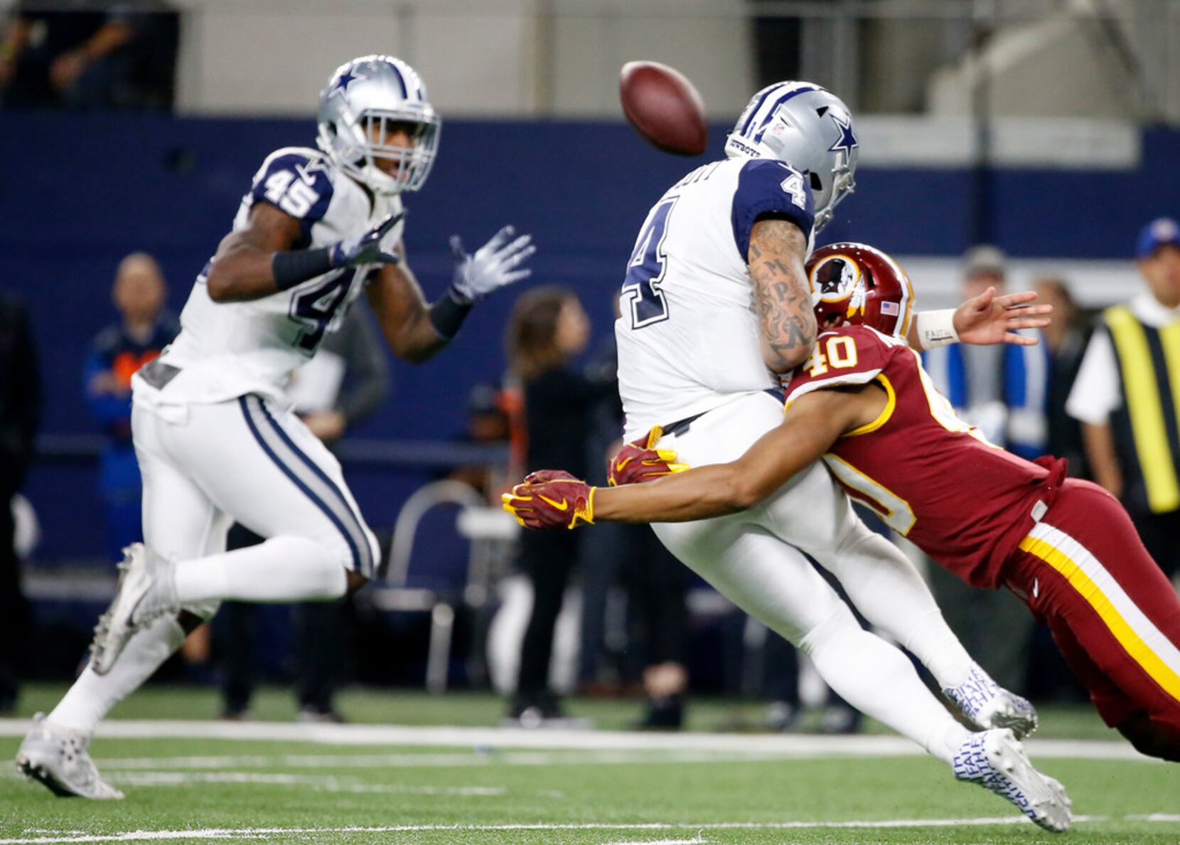
[[[254,176],[242,197],[234,230],[247,227],[255,203],[270,203],[300,223],[293,249],[326,247],[360,235],[387,215],[401,210],[396,195],[371,202],[348,176],[319,151],[276,150]],[[399,222],[382,248],[393,251],[401,238]],[[211,263],[211,262],[210,262]],[[282,401],[293,371],[310,359],[327,332],[343,320],[375,266],[340,268],[249,302],[214,302],[205,279],[197,276],[181,313],[181,334],[160,355],[179,368],[158,395],[170,402],[219,402],[248,393]],[[155,388],[136,380],[140,400]]]

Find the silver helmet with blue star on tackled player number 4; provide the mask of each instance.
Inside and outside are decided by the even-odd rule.
[[[775,83],[759,91],[726,139],[730,158],[778,158],[802,172],[815,198],[815,231],[856,189],[857,136],[839,97],[812,83]]]

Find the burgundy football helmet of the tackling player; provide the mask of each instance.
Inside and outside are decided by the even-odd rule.
[[[841,323],[870,326],[905,338],[913,319],[913,284],[893,258],[867,243],[833,243],[807,262],[820,330]]]

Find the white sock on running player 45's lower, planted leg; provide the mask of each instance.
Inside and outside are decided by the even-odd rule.
[[[88,736],[103,716],[151,677],[183,642],[184,629],[176,617],[162,616],[131,636],[105,675],[96,674],[87,663],[48,720]]]

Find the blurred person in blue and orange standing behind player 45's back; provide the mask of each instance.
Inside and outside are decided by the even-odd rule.
[[[119,263],[111,295],[120,320],[90,345],[83,384],[91,414],[107,438],[98,486],[106,505],[107,559],[114,562],[123,559],[124,546],[143,539],[143,485],[131,445],[131,376],[172,342],[181,326],[164,310],[164,276],[146,253],[132,253]]]

